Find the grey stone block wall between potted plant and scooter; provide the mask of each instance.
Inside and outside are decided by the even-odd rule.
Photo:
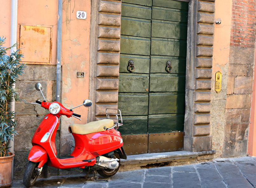
[[[48,110],[31,102],[43,100],[41,93],[35,89],[35,83],[43,86],[43,94],[47,101],[55,100],[56,66],[27,64],[24,74],[16,82],[16,90],[22,101],[15,102],[17,135],[14,137],[14,179],[22,179],[28,163],[27,157],[32,147],[31,139],[38,125]],[[59,151],[59,130],[56,134],[56,148]],[[54,173],[54,171],[50,171]]]

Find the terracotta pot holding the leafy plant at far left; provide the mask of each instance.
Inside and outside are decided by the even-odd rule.
[[[12,184],[11,168],[13,153],[9,153],[10,156],[0,157],[0,187],[7,187]]]

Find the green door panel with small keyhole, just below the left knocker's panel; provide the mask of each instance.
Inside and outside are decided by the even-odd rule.
[[[119,74],[119,92],[148,93],[147,88],[149,88],[148,74]]]

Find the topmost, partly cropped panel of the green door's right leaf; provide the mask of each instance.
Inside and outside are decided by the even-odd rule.
[[[189,10],[189,3],[174,0],[153,0],[153,6]]]

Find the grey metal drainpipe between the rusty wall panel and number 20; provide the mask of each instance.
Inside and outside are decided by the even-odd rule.
[[[58,0],[56,101],[60,101],[62,0]]]

